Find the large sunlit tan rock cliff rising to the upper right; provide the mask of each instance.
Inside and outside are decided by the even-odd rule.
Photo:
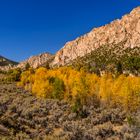
[[[74,41],[68,42],[56,53],[53,66],[65,65],[77,57],[82,57],[101,46],[125,44],[122,49],[140,47],[140,7],[130,14],[105,26],[94,28]]]

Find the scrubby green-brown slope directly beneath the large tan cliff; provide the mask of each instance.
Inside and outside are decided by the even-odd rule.
[[[100,70],[106,70],[109,65],[114,65],[121,62],[123,70],[128,70],[126,62],[131,57],[140,58],[140,47],[122,49],[126,41],[117,45],[110,44],[108,46],[101,46],[95,51],[85,55],[84,57],[78,57],[75,60],[70,61],[67,65],[77,64],[81,66],[92,66],[93,68],[99,68]]]

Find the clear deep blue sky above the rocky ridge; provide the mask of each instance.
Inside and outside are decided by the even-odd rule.
[[[140,0],[0,0],[0,55],[21,61],[55,53],[139,5]]]

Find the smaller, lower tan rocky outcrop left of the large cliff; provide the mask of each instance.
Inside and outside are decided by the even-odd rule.
[[[28,63],[32,68],[37,68],[52,59],[53,55],[50,53],[42,53],[40,55],[32,56],[29,59],[19,63],[18,68],[25,68]]]

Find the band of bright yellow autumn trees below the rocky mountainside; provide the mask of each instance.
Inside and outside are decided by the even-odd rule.
[[[95,74],[70,67],[48,70],[29,69],[21,74],[19,86],[38,97],[64,99],[80,104],[122,105],[136,109],[140,105],[140,77]]]

